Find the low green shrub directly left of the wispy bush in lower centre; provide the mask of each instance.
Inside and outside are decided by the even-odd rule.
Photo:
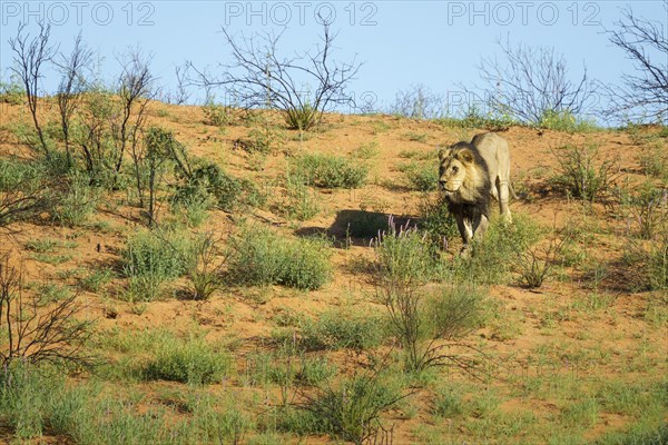
[[[383,319],[379,316],[327,310],[302,323],[302,342],[307,349],[315,350],[365,350],[381,344],[384,328]]]

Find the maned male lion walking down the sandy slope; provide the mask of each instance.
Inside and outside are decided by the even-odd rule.
[[[482,238],[490,219],[490,197],[499,201],[501,216],[512,222],[509,196],[510,150],[493,132],[477,135],[471,142],[456,142],[439,151],[439,188],[454,216],[466,253],[471,240]]]

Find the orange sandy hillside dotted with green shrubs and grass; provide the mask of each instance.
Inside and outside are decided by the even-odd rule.
[[[1,106],[2,439],[668,441],[666,128],[502,128],[515,222],[462,259],[436,147],[497,122],[150,102],[116,172]]]

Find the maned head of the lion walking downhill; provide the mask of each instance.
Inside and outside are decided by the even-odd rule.
[[[484,160],[474,146],[458,142],[439,151],[439,189],[451,201],[477,201],[489,187]]]

